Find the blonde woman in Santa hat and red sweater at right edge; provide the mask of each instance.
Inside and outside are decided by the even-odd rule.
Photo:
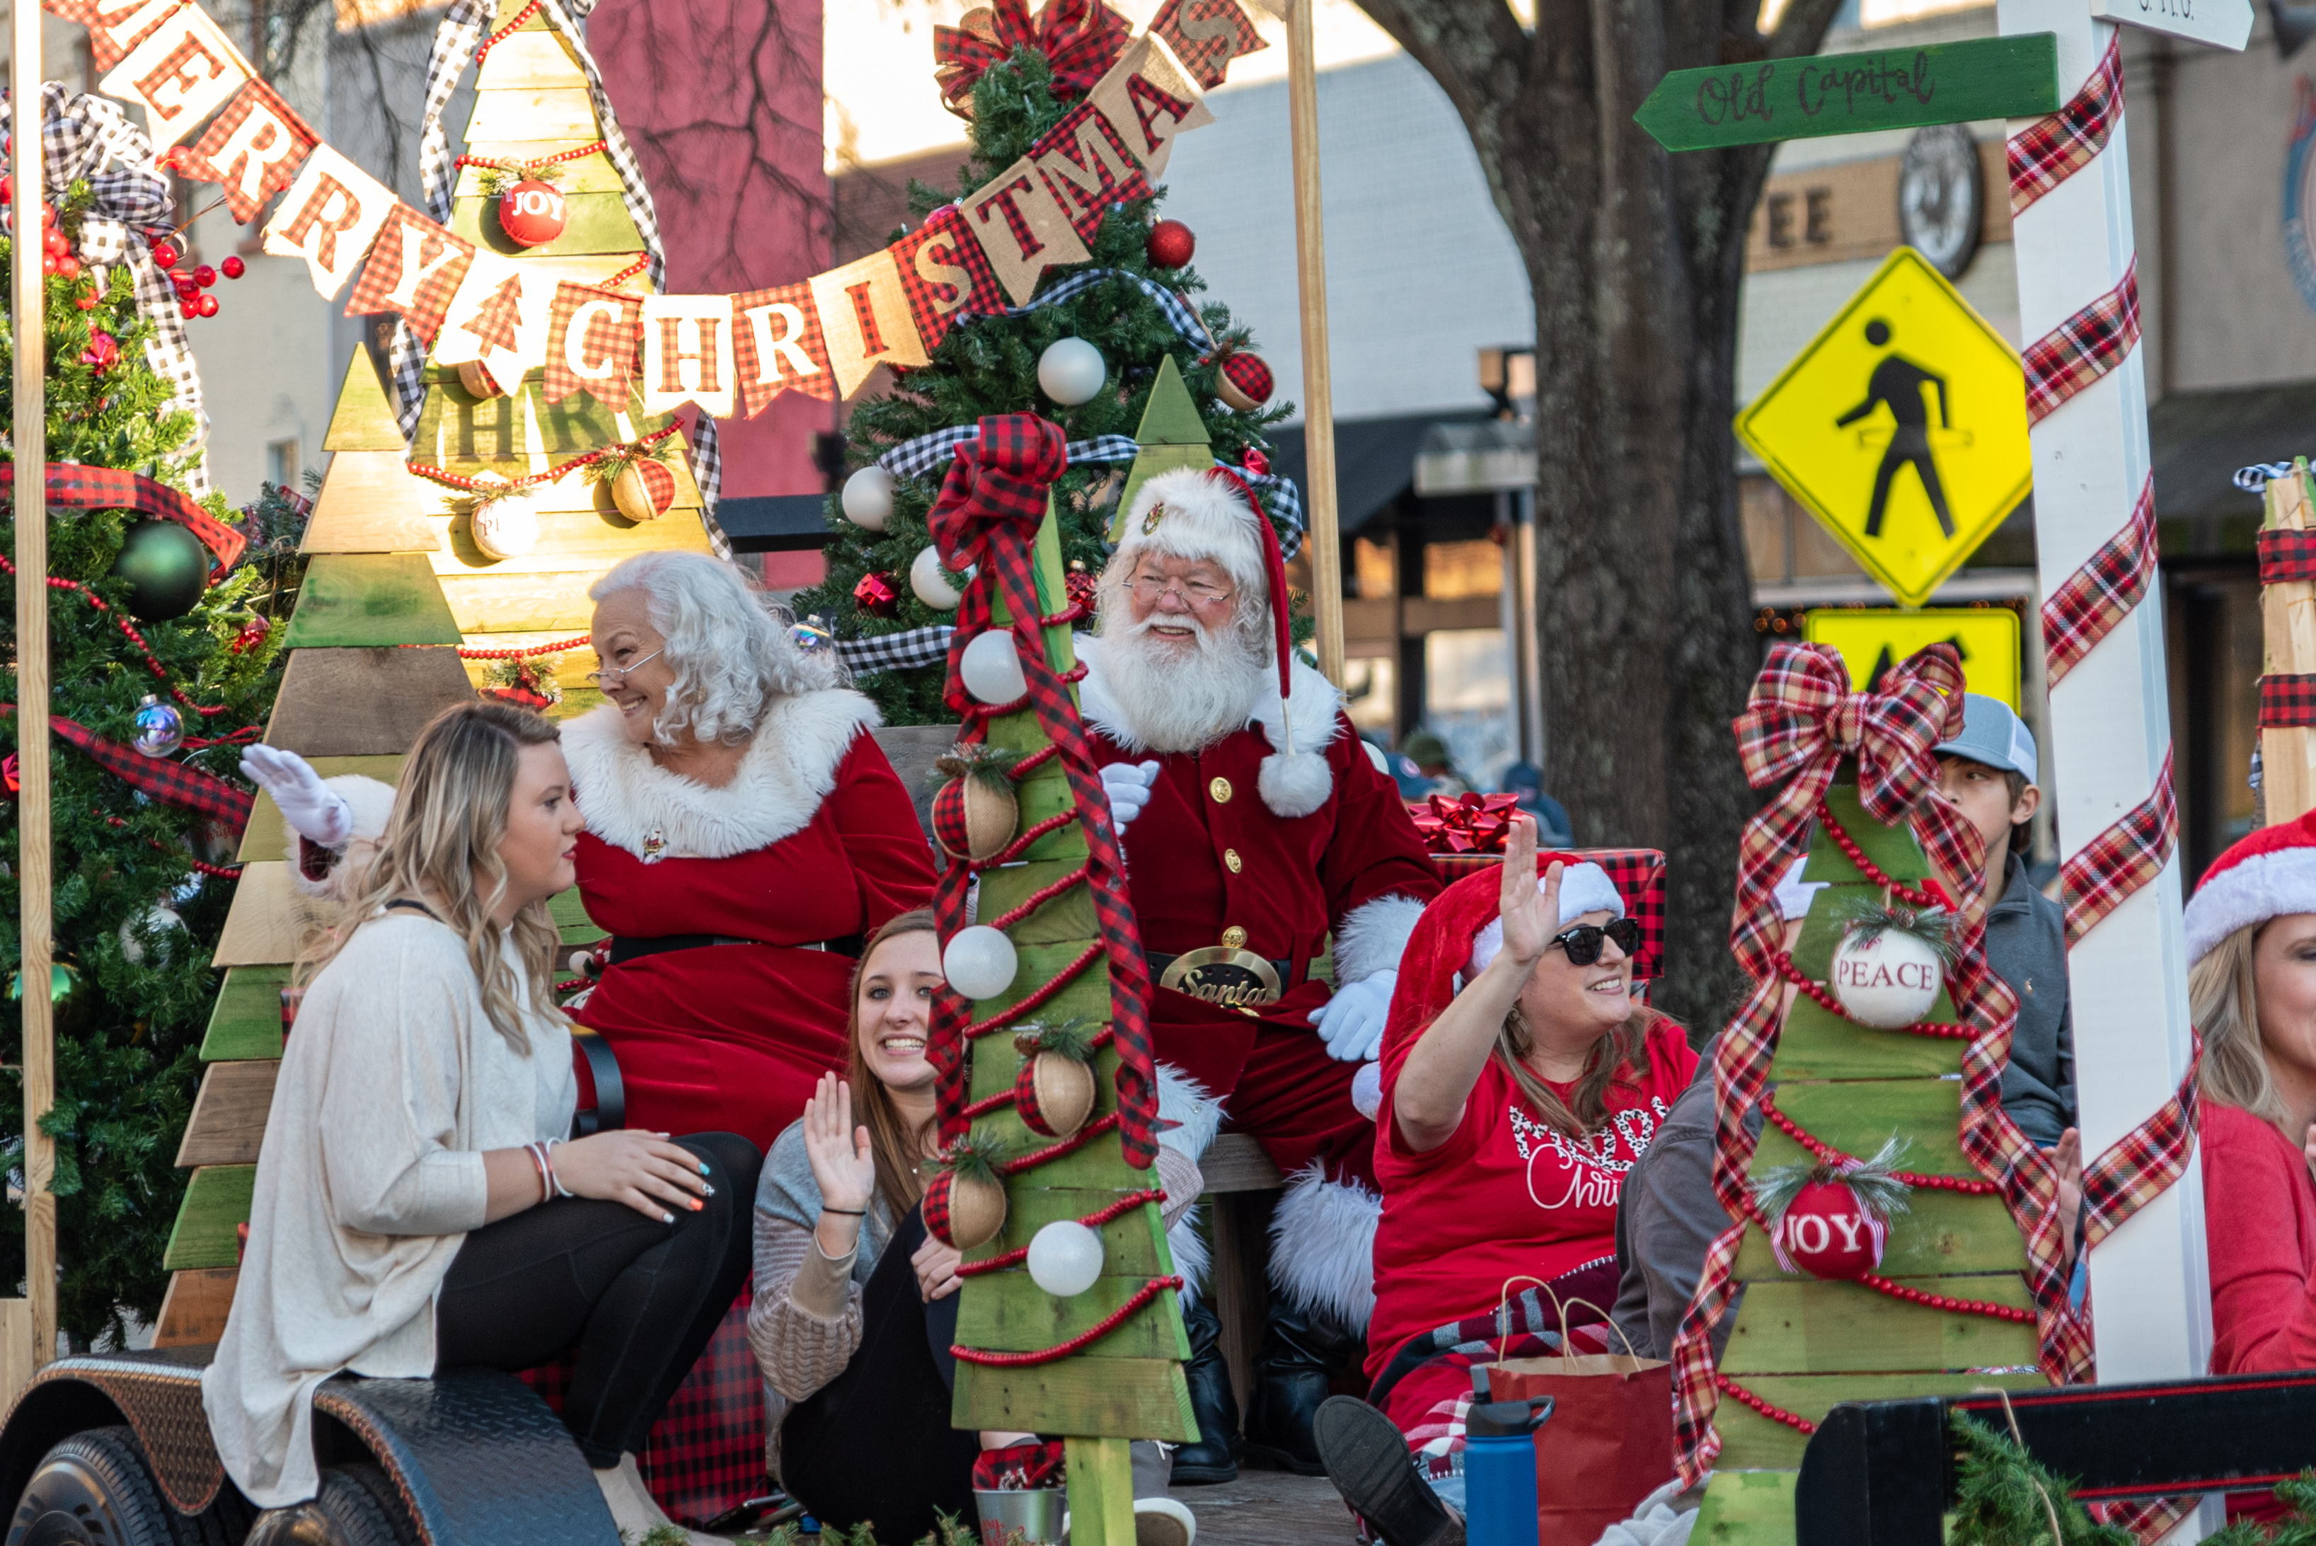
[[[2316,812],[2212,863],[2186,905],[2186,956],[2212,1372],[2316,1368]],[[2284,1509],[2237,1493],[2228,1514]]]

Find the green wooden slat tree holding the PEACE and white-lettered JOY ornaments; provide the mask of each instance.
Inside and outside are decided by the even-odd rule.
[[[1913,831],[1904,822],[1874,819],[1855,782],[1834,782],[1825,810],[1890,879],[1920,886],[1932,875]],[[1888,903],[1888,893],[1825,824],[1811,840],[1804,879],[1825,886],[1811,900],[1793,963],[1811,984],[1827,984],[1848,919],[1860,903]],[[1925,1018],[1957,1021],[1945,988]],[[1962,1039],[1871,1030],[1802,991],[1786,1011],[1769,1065],[1774,1111],[1844,1155],[1874,1155],[1897,1136],[1908,1143],[1901,1169],[1978,1183],[1959,1139],[1962,1055]],[[1749,1176],[1809,1160],[1811,1153],[1769,1118]],[[1925,1185],[1915,1185],[1906,1203],[1906,1213],[1890,1220],[1876,1275],[2029,1319],[1906,1303],[1862,1282],[1790,1273],[1779,1266],[1769,1236],[1749,1224],[1735,1268],[1744,1301],[1718,1361],[1723,1386],[1714,1426],[1721,1453],[1693,1537],[1700,1546],[1793,1541],[1793,1481],[1809,1442],[1804,1423],[1813,1428],[1844,1400],[2047,1384],[2036,1370],[2033,1298],[2022,1275],[2026,1252],[2008,1203],[1999,1194]]]

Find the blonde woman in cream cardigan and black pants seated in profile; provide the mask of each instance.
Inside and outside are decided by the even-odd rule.
[[[218,1456],[262,1507],[313,1497],[336,1375],[523,1370],[579,1349],[563,1421],[625,1534],[667,1523],[635,1449],[748,1273],[746,1139],[565,1143],[572,1044],[547,898],[579,812],[556,729],[438,715],[283,1053],[250,1243],[201,1375]],[[709,1539],[709,1537],[697,1537]]]

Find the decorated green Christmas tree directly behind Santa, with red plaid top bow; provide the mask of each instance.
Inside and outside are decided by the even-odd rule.
[[[1026,23],[1026,7],[1019,9]],[[1049,12],[1056,9],[1068,7],[1054,0]],[[1098,19],[1109,16],[1105,7],[1093,7],[1093,12]],[[1114,16],[1112,21],[1116,28],[1109,30],[1089,21],[1086,30],[1065,44],[1054,42],[1058,28],[1042,19],[1045,30],[1035,42],[1014,46],[980,72],[973,79],[970,113],[966,113],[973,150],[959,167],[957,187],[940,192],[917,183],[910,187],[910,208],[924,218],[952,199],[970,204],[975,190],[1012,169],[1042,134],[1077,111],[1086,83],[1126,44],[1123,21]],[[1102,42],[1089,42],[1091,37]],[[1063,53],[1065,69],[1056,72],[1042,46]],[[1079,56],[1065,53],[1070,46]],[[1091,69],[1089,60],[1082,58],[1086,51],[1105,51],[1091,60]],[[954,79],[945,83],[945,90],[961,97]],[[1093,171],[1109,176],[1098,155],[1086,160]],[[1269,373],[1246,370],[1246,366],[1260,366],[1260,359],[1248,352],[1246,329],[1232,322],[1227,305],[1193,308],[1188,301],[1204,289],[1204,282],[1188,266],[1190,231],[1181,222],[1156,220],[1163,192],[1149,190],[1146,183],[1142,183],[1139,197],[1126,183],[1105,185],[1102,192],[1109,201],[1095,206],[1100,208],[1098,224],[1089,220],[1082,229],[1089,250],[1084,262],[1049,268],[1028,305],[970,315],[931,349],[929,363],[894,370],[892,391],[855,407],[848,424],[848,465],[875,465],[896,447],[938,430],[970,428],[984,414],[1045,414],[1063,428],[1072,444],[1095,442],[1105,435],[1130,437],[1142,424],[1165,361],[1174,363],[1190,389],[1214,461],[1241,465],[1248,451],[1262,451],[1262,428],[1285,419],[1292,403],[1255,400],[1241,391],[1246,384],[1260,384],[1267,396]],[[1158,231],[1160,224],[1167,229]],[[1179,264],[1163,266],[1172,259]],[[975,294],[975,305],[982,305],[980,296],[994,296],[996,285],[977,285]],[[1065,345],[1065,340],[1077,340],[1079,347],[1063,347],[1056,354],[1056,345]],[[1089,352],[1098,352],[1105,366],[1098,389],[1082,400],[1051,396],[1049,387],[1061,387],[1065,398],[1077,398],[1084,387],[1077,375],[1089,370]],[[1230,356],[1237,356],[1241,375],[1248,377],[1241,387],[1232,387],[1241,393],[1244,407],[1232,407],[1221,396],[1223,363]],[[1047,361],[1051,366],[1040,370]],[[1040,375],[1047,377],[1047,384],[1040,384]],[[1123,456],[1133,456],[1133,449],[1126,447]],[[940,491],[947,465],[945,449],[936,456],[906,458],[899,468],[887,465],[892,477],[880,481],[878,498],[868,500],[866,491],[831,495],[829,528],[836,535],[827,544],[829,572],[820,586],[797,595],[797,611],[827,620],[831,632],[848,641],[950,623],[957,602],[933,604],[945,599],[940,590],[910,583],[919,562],[938,567],[938,555],[931,560],[922,560],[922,555],[931,546],[926,511]],[[857,472],[855,479],[859,479]],[[848,488],[857,488],[857,484],[848,484]],[[1258,488],[1292,551],[1302,530],[1299,509],[1288,514],[1278,502],[1281,495],[1274,493],[1276,486],[1258,481]],[[1119,463],[1091,456],[1072,458],[1054,484],[1065,572],[1089,576],[1100,572],[1105,528],[1121,505],[1121,493]],[[859,521],[857,511],[871,511],[873,525]],[[950,592],[961,583],[961,574],[947,574]],[[938,664],[868,669],[859,678],[862,692],[878,701],[887,724],[950,720],[952,713],[940,701],[940,683],[943,669]]]

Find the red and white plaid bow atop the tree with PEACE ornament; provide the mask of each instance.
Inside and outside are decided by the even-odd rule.
[[[1962,905],[1980,884],[1978,833],[1952,805],[1922,798],[1938,782],[1932,748],[1962,734],[1962,657],[1934,643],[1883,676],[1881,692],[1850,692],[1841,655],[1823,643],[1779,643],[1737,715],[1737,754],[1756,789],[1790,780],[1746,822],[1737,854],[1737,919],[1730,949],[1760,977],[1783,919],[1776,882],[1809,840],[1809,817],[1844,757],[1857,761],[1857,798],[1878,822],[1913,812],[1915,835]]]

